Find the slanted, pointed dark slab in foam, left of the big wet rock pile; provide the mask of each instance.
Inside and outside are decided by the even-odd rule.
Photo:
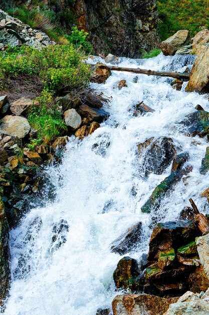
[[[133,251],[141,239],[141,226],[141,222],[131,226],[124,234],[111,244],[111,252],[124,255],[129,251]]]

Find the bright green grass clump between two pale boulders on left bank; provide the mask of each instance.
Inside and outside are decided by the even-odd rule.
[[[31,139],[28,145],[33,149],[41,143],[47,144],[66,129],[62,109],[53,102],[53,95],[43,91],[39,104],[35,105],[28,117],[30,125],[37,130],[37,139]]]

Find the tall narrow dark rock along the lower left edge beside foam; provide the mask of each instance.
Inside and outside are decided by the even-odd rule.
[[[0,223],[0,303],[2,304],[10,287],[9,226],[2,197],[0,197]]]

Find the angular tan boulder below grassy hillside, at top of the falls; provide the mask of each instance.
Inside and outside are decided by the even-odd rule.
[[[188,31],[180,30],[161,43],[160,49],[165,56],[173,56],[175,52],[186,45]]]

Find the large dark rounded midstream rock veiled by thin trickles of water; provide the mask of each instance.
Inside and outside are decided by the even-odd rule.
[[[144,147],[147,146],[147,143],[145,143]],[[173,160],[175,154],[176,150],[171,138],[161,137],[151,141],[145,152],[143,162],[145,176],[148,176],[149,173],[162,174]]]

